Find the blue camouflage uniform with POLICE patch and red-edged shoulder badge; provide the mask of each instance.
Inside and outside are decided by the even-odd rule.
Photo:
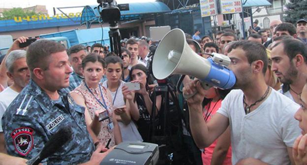
[[[72,139],[43,160],[44,165],[76,165],[90,160],[94,145],[85,123],[85,108],[66,90],[58,92],[60,99],[53,101],[31,80],[7,108],[2,127],[9,155],[31,159],[52,135],[66,127],[72,130]]]

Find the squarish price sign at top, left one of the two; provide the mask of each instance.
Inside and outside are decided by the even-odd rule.
[[[199,0],[202,17],[209,17],[217,14],[216,0]]]

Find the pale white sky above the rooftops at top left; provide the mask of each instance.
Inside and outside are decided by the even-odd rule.
[[[117,3],[131,3],[131,2],[145,2],[155,0],[116,0]],[[74,7],[74,6],[85,6],[95,5],[97,0],[0,0],[0,8],[12,8],[12,7],[31,7],[35,5],[45,5],[49,15],[53,15],[53,7]],[[65,13],[70,12],[81,12],[83,8],[73,9],[61,9]],[[57,13],[61,13],[59,10]]]

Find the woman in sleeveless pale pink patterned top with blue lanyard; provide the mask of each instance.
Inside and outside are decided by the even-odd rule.
[[[77,104],[85,107],[87,126],[97,135],[92,135],[94,141],[98,138],[103,145],[112,147],[122,142],[122,136],[113,113],[112,96],[100,83],[104,68],[105,61],[101,56],[87,55],[82,60],[84,81],[70,94]],[[100,122],[98,113],[103,116]]]

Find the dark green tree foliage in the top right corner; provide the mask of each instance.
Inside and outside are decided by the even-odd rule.
[[[285,6],[285,22],[295,24],[299,19],[307,18],[307,0],[289,0]]]

